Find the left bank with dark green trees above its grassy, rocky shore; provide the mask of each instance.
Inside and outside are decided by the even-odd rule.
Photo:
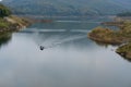
[[[29,24],[31,21],[11,15],[11,11],[3,4],[0,4],[0,33],[19,30]]]

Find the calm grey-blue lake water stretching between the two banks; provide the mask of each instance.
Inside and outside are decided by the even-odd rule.
[[[0,87],[131,87],[131,63],[87,38],[100,21],[55,20],[2,35]]]

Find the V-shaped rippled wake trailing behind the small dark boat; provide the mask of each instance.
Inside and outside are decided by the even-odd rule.
[[[38,36],[39,37],[39,36]],[[86,35],[50,35],[50,36],[43,36],[40,39],[35,38],[37,46],[41,49],[55,48],[66,42],[79,40],[82,38],[86,38]]]

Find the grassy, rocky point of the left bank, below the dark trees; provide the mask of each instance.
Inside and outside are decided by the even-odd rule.
[[[32,22],[29,20],[17,17],[16,15],[0,17],[0,33],[16,32],[29,26],[31,24]]]

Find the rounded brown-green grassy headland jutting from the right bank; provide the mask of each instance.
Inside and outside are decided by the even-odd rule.
[[[114,32],[104,27],[96,27],[88,36],[93,40],[111,45],[120,45],[124,40],[124,37],[122,37],[119,32]]]

